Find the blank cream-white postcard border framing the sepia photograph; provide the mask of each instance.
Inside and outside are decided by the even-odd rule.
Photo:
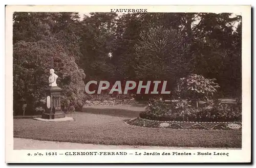
[[[73,152],[77,150],[13,150],[13,85],[12,85],[12,14],[16,12],[110,12],[110,9],[147,9],[147,12],[230,12],[242,15],[242,149],[238,150],[154,150],[162,152],[228,152],[229,157],[216,156],[28,156],[28,153]],[[249,162],[251,156],[251,7],[250,6],[7,6],[6,7],[6,162],[52,163],[129,163],[129,162]],[[81,151],[81,150],[79,150]],[[95,150],[82,150],[83,152]],[[104,151],[105,150],[97,150]],[[108,150],[129,153],[138,150]],[[139,152],[150,150],[139,150]],[[151,150],[153,151],[153,150]],[[127,152],[128,153],[128,152]]]

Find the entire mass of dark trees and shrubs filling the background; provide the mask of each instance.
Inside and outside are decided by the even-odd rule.
[[[199,74],[216,78],[219,96],[241,97],[241,20],[231,13],[15,12],[14,113],[44,104],[50,68],[65,110],[90,98],[83,92],[89,80],[167,80],[174,91],[177,80]]]

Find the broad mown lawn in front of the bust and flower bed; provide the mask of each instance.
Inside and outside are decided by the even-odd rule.
[[[134,114],[138,116],[137,114]],[[14,137],[105,145],[241,148],[241,130],[177,130],[125,124],[131,117],[75,112],[75,121],[13,119]]]

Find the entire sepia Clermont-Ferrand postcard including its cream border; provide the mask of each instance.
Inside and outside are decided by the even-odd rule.
[[[6,163],[251,162],[251,6],[6,6]]]

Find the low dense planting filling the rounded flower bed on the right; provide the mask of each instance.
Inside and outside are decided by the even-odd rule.
[[[157,121],[241,122],[242,107],[237,104],[214,104],[198,108],[176,108],[175,104],[155,102],[140,113],[140,118]]]

